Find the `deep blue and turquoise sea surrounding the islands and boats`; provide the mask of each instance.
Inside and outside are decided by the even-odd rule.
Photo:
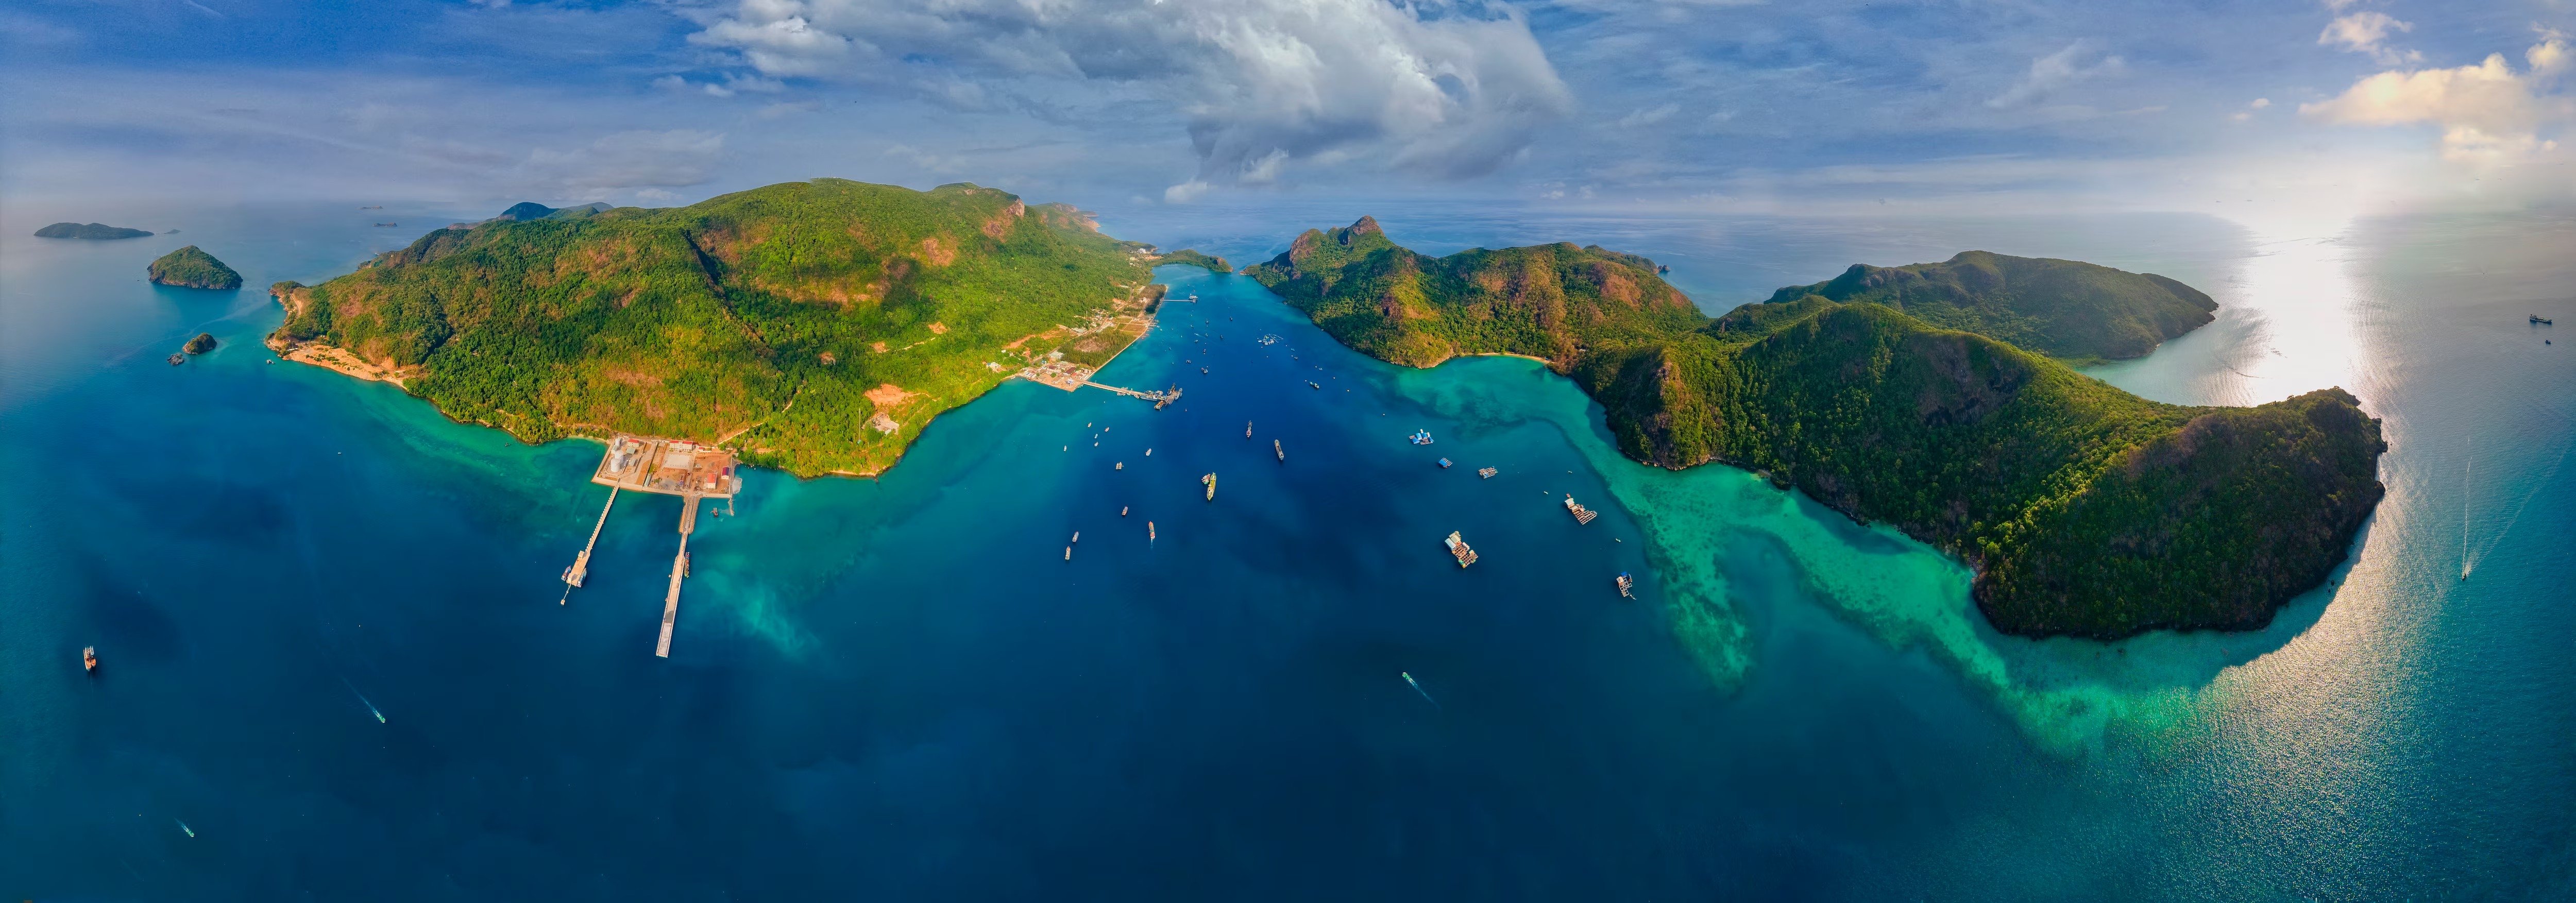
[[[1636,466],[1530,360],[1399,370],[1167,268],[1198,301],[1097,378],[1180,404],[1005,383],[884,479],[755,471],[670,659],[677,499],[621,497],[567,597],[598,445],[258,345],[258,286],[471,211],[28,239],[46,214],[103,216],[0,237],[5,898],[2576,895],[2576,347],[2524,322],[2576,316],[2563,214],[1105,216],[1236,262],[1358,214],[1432,252],[1597,242],[1710,311],[1971,247],[2182,278],[2221,319],[2097,376],[2344,386],[2391,440],[2354,561],[2267,630],[2004,638],[1955,561]],[[144,283],[178,244],[252,288]],[[222,347],[162,363],[196,332]]]

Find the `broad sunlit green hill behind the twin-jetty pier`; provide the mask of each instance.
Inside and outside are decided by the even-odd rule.
[[[1103,352],[1074,329],[1141,311],[1149,278],[1136,244],[1066,206],[811,180],[438,229],[276,286],[270,345],[343,347],[526,440],[626,430],[876,473],[1020,355]]]

